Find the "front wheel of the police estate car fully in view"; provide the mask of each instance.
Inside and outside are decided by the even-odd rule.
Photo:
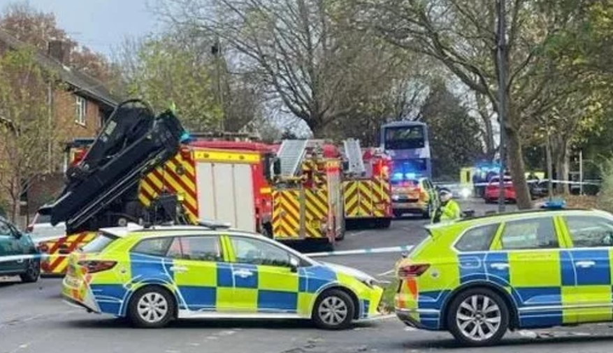
[[[330,289],[315,301],[312,319],[320,329],[342,330],[351,325],[354,313],[352,298],[345,291]]]

